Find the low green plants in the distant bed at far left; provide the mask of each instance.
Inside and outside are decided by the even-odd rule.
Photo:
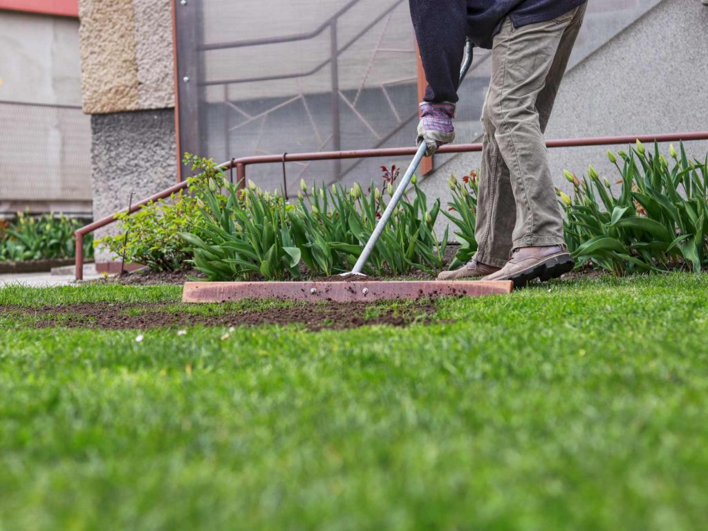
[[[74,258],[74,231],[84,224],[63,214],[28,216],[17,213],[13,222],[0,220],[0,261]],[[84,239],[84,256],[93,256],[93,239]]]

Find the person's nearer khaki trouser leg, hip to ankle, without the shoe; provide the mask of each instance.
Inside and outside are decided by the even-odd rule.
[[[514,248],[564,244],[537,98],[576,11],[520,28],[507,19],[494,38],[486,105],[515,198]]]

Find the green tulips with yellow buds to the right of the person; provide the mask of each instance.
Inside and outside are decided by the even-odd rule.
[[[651,153],[640,142],[619,152],[622,166],[615,154],[608,156],[622,177],[619,196],[592,166],[582,180],[566,171],[572,199],[557,192],[566,212],[566,244],[578,266],[592,262],[615,274],[706,267],[708,158],[690,161],[683,144],[680,152],[671,146],[670,168],[658,144]]]

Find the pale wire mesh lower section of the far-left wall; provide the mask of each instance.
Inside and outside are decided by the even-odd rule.
[[[0,102],[0,215],[91,214],[91,124],[79,107]]]

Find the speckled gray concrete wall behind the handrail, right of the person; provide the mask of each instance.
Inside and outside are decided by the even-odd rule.
[[[546,137],[706,130],[707,38],[708,7],[699,0],[663,0],[566,74]],[[668,156],[668,146],[662,149]],[[590,164],[615,181],[617,170],[607,160],[606,150],[550,150],[556,185],[569,192],[563,170],[580,175]],[[708,142],[690,142],[687,150],[703,158]],[[423,180],[422,186],[430,195],[449,200],[450,174],[461,177],[479,165],[479,154],[456,156]]]

